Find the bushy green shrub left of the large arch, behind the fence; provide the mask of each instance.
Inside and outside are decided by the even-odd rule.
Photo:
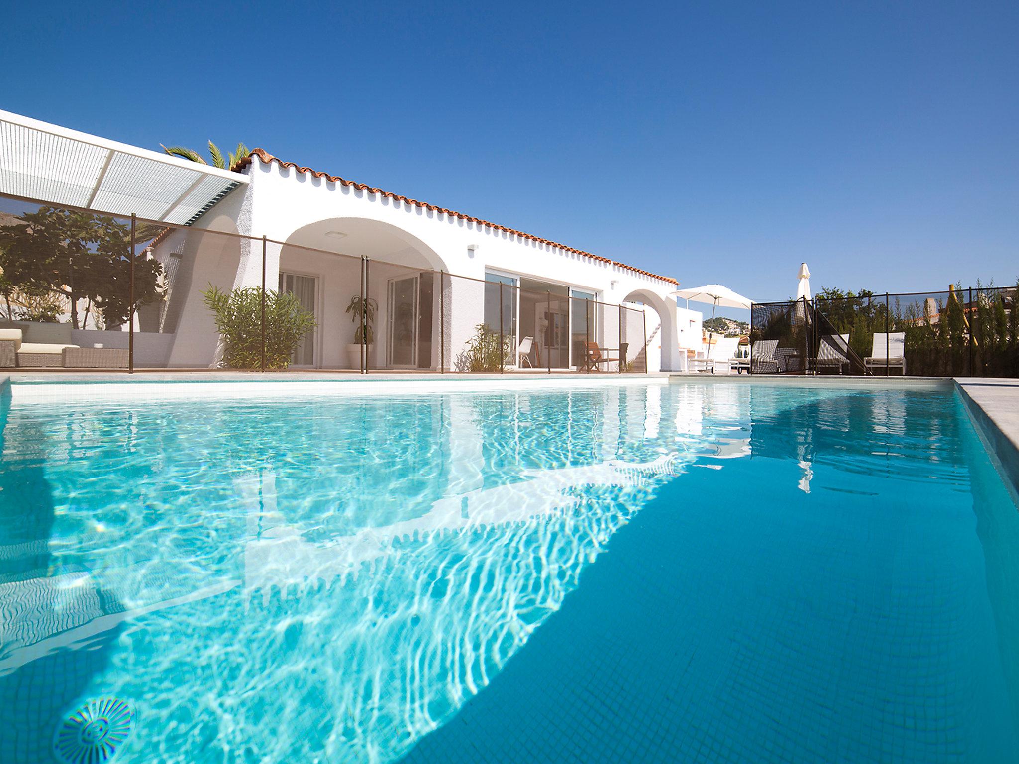
[[[223,340],[220,366],[227,369],[258,369],[262,365],[262,287],[248,286],[229,292],[209,285],[202,292],[216,316],[216,329]],[[265,293],[265,366],[286,369],[290,356],[304,336],[317,326],[315,316],[301,302],[283,292]]]

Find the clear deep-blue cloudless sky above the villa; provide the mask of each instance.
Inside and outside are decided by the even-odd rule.
[[[8,3],[0,108],[758,301],[1019,276],[1019,3]]]

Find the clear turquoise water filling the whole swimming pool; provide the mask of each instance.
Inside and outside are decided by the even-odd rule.
[[[116,762],[1019,761],[1019,514],[951,392],[0,423],[4,762],[93,701]]]

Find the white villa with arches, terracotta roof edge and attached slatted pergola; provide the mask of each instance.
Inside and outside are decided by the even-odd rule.
[[[376,306],[372,371],[455,370],[479,324],[501,327],[522,350],[515,368],[583,369],[595,342],[609,358],[622,345],[641,369],[678,370],[682,335],[700,332],[700,314],[668,296],[674,278],[261,149],[234,169],[0,112],[0,194],[173,226],[149,247],[165,284],[135,322],[140,367],[214,366],[219,337],[202,291],[257,287],[263,268],[268,288],[296,294],[318,322],[293,356],[297,368],[358,368],[346,308],[363,269]],[[121,346],[126,328],[74,329],[71,341]]]

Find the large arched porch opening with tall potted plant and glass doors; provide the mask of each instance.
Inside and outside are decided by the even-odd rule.
[[[367,259],[367,260],[365,260]],[[368,292],[362,294],[362,269]],[[301,368],[358,369],[361,298],[367,298],[370,369],[434,369],[439,363],[439,278],[431,247],[389,223],[329,218],[287,236],[279,289],[315,314],[317,329],[293,354]]]

